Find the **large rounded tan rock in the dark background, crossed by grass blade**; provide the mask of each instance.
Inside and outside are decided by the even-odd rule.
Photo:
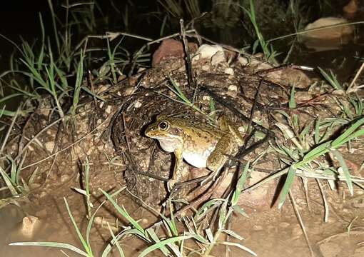
[[[337,17],[325,17],[308,24],[305,27],[305,31],[309,29],[318,29],[324,26],[332,26],[336,24],[348,23],[347,19]],[[315,39],[339,39],[342,36],[353,34],[354,27],[350,25],[337,26],[333,28],[320,29],[318,31],[310,31],[302,34],[304,37],[315,38]]]

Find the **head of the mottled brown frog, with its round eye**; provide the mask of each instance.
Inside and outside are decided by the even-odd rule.
[[[178,126],[178,119],[165,115],[158,115],[156,121],[145,131],[146,136],[158,140],[173,141],[181,138],[183,130]]]

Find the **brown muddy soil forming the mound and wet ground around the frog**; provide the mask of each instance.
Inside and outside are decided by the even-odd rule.
[[[123,205],[145,228],[159,221],[156,213],[146,206],[162,210],[161,203],[168,195],[166,179],[171,177],[174,158],[173,154],[161,151],[153,139],[143,135],[143,131],[161,113],[208,122],[206,116],[191,106],[176,101],[181,99],[171,91],[173,86],[169,77],[179,84],[188,99],[195,97],[196,106],[201,111],[208,114],[210,100],[213,99],[216,114],[226,114],[240,129],[246,129],[249,121],[243,117],[249,117],[254,102],[258,103],[253,114],[253,127],[263,135],[273,133],[274,136],[243,156],[244,161],[256,161],[246,188],[271,176],[284,164],[275,152],[265,152],[267,148],[272,144],[293,146],[293,142],[285,138],[278,126],[275,126],[277,123],[287,124],[281,111],[290,116],[298,114],[298,124],[303,129],[318,117],[323,121],[325,118],[340,116],[342,110],[337,101],[346,103],[343,94],[330,90],[327,85],[310,86],[313,80],[308,79],[303,71],[291,68],[270,70],[272,66],[259,56],[247,60],[233,55],[230,62],[223,60],[213,63],[214,65],[211,59],[193,62],[197,89],[188,86],[186,63],[181,56],[161,58],[152,69],[141,71],[128,79],[121,78],[116,85],[100,81],[95,84],[96,93],[106,99],[106,102],[84,95],[76,116],[62,126],[56,123],[39,135],[39,131],[56,120],[54,114],[47,109],[46,101],[44,108],[37,109],[34,114],[24,118],[19,126],[21,129],[14,131],[6,151],[10,156],[17,156],[19,152],[25,156],[21,176],[29,183],[30,191],[0,210],[4,224],[0,227],[3,242],[0,255],[64,256],[64,253],[55,248],[8,245],[16,241],[56,241],[81,248],[66,210],[65,199],[76,223],[85,232],[88,221],[85,198],[74,188],[84,188],[86,159],[90,167],[89,188],[93,211],[104,200],[99,188],[112,193],[125,187],[117,197],[118,204]],[[257,71],[263,72],[257,74]],[[262,79],[261,94],[256,98]],[[296,85],[297,91],[295,101],[298,107],[294,111],[288,109],[292,84]],[[204,88],[208,90],[204,91]],[[214,95],[210,94],[211,91]],[[218,99],[227,104],[221,104]],[[24,138],[34,138],[35,135],[37,140],[23,148],[29,140]],[[19,138],[23,138],[20,142],[24,143],[19,143]],[[258,141],[256,136],[247,144],[252,145]],[[362,178],[364,174],[360,171],[360,165],[363,158],[360,156],[363,156],[363,148],[360,147],[360,141],[352,142],[350,151],[353,149],[354,153],[345,147],[340,148],[340,151],[348,161],[350,172]],[[261,156],[261,153],[264,155]],[[331,162],[325,158],[320,161]],[[185,168],[191,175],[183,181],[208,173],[206,169],[193,168],[186,163]],[[231,166],[229,172],[221,176],[221,184],[213,197],[221,197],[235,183],[236,166]],[[308,197],[304,190],[306,179]],[[291,197],[287,197],[283,208],[278,209],[276,200],[283,182],[283,178],[275,178],[271,183],[241,194],[239,205],[248,213],[248,217],[239,214],[233,216],[231,230],[244,238],[243,241],[236,242],[263,257],[311,254],[324,257],[363,256],[363,189],[355,187],[354,196],[350,196],[345,182],[338,182],[337,188],[332,190],[327,181],[322,180],[320,183],[323,185],[329,211],[328,221],[324,222],[323,197],[315,178],[297,176],[291,188]],[[213,183],[210,182],[207,186]],[[193,201],[203,197],[203,191],[193,190],[195,188],[196,184],[186,186],[184,190],[178,191],[176,198]],[[189,214],[191,213],[186,213]],[[298,215],[302,218],[302,223],[298,221]],[[91,246],[93,253],[99,256],[111,239],[106,221],[115,228],[115,233],[122,226],[128,226],[128,223],[108,202],[96,216],[98,218],[91,229]],[[307,233],[309,245],[303,231]],[[146,248],[146,244],[136,237],[123,239],[121,246],[126,256],[136,256]],[[238,248],[230,250],[231,256],[251,256]],[[76,253],[65,252],[69,256],[76,256]],[[113,254],[118,256],[116,251]],[[163,256],[158,251],[153,254]],[[226,248],[220,246],[211,252],[212,256],[225,254]]]

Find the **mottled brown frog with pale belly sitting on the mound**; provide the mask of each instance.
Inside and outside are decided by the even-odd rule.
[[[181,181],[183,159],[196,168],[208,168],[215,178],[229,156],[238,153],[244,144],[238,128],[225,115],[219,117],[217,124],[160,114],[146,128],[145,135],[157,139],[161,148],[173,152],[176,158],[172,178],[167,182],[168,191]]]

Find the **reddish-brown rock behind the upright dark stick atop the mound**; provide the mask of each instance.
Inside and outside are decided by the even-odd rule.
[[[188,43],[188,51],[190,54],[195,52],[197,49],[197,44]],[[152,58],[152,66],[155,67],[157,64],[168,57],[183,57],[185,56],[183,44],[181,41],[175,39],[166,39],[162,41],[161,46],[154,52]]]

